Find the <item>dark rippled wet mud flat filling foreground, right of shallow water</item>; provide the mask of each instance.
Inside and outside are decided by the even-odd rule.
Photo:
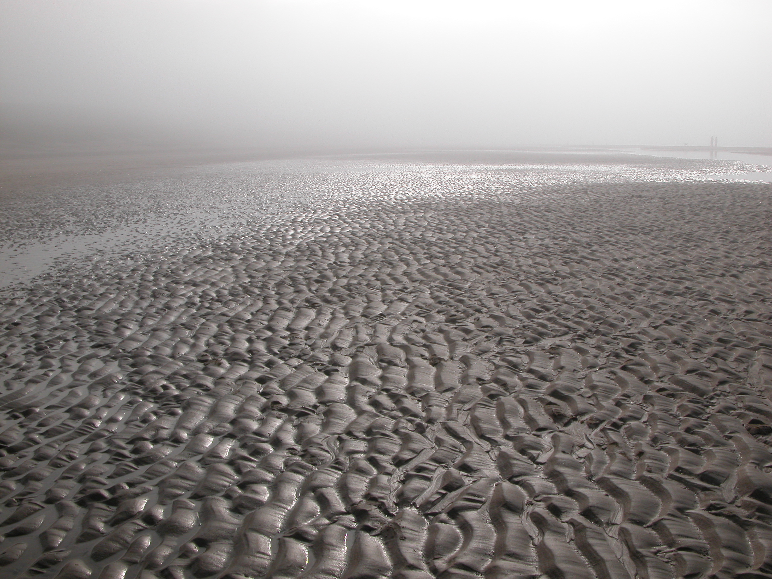
[[[5,293],[2,577],[772,577],[772,187],[368,171]]]

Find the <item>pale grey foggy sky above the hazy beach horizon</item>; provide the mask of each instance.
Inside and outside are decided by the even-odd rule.
[[[772,147],[772,2],[0,0],[6,136]]]

